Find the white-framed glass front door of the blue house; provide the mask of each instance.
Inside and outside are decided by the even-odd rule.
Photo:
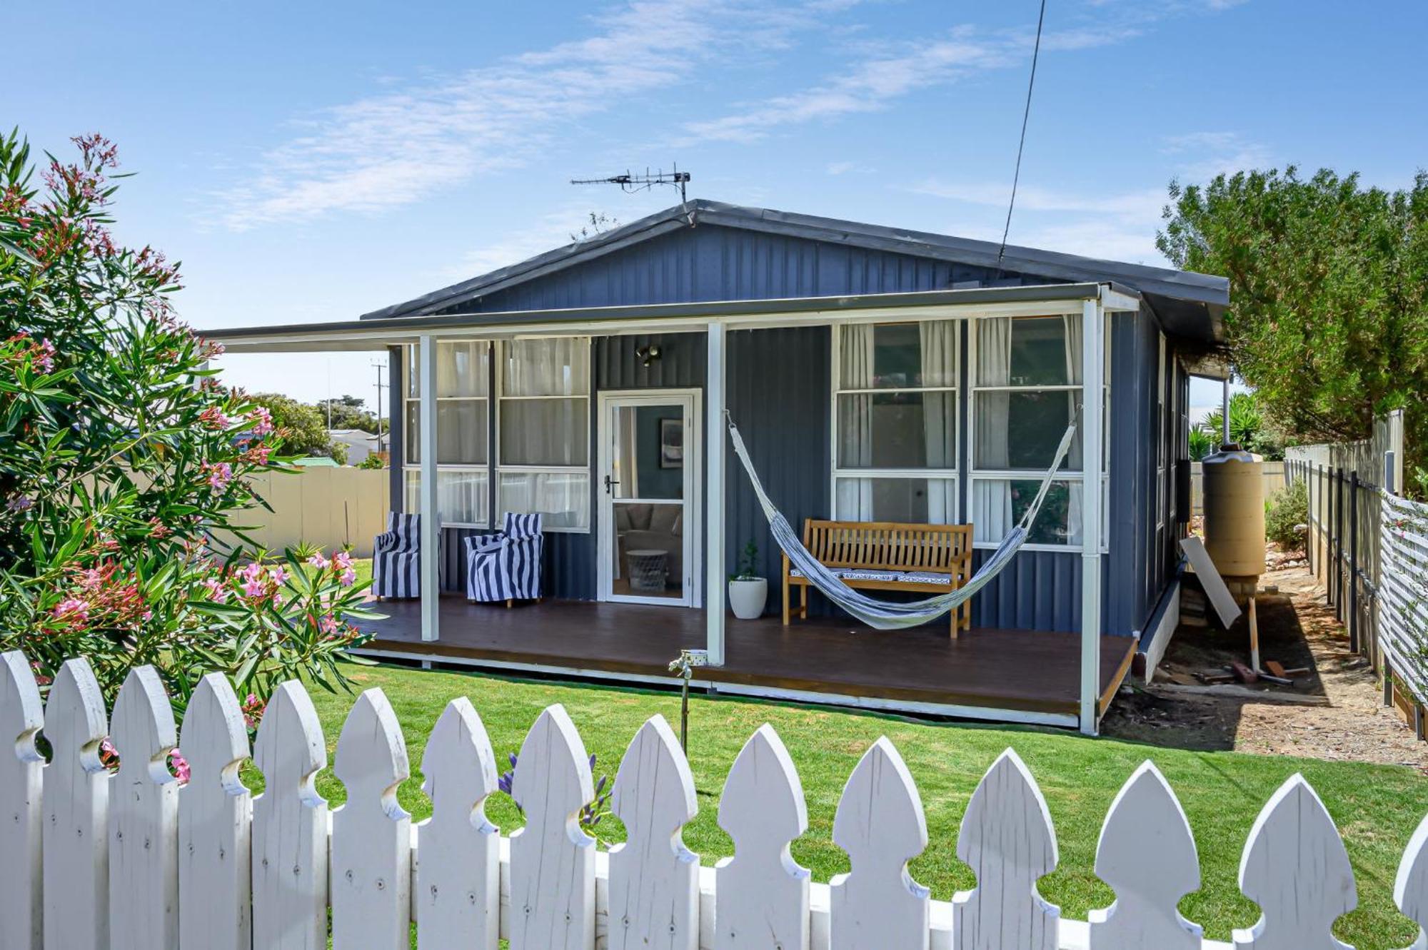
[[[600,599],[698,606],[698,389],[600,397]]]

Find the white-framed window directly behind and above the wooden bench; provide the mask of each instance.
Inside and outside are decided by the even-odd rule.
[[[955,523],[961,321],[841,324],[833,351],[834,518]]]

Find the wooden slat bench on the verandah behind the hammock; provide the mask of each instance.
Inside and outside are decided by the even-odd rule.
[[[841,573],[850,588],[945,593],[972,576],[971,525],[904,525],[891,521],[804,521],[804,548]],[[808,578],[784,555],[784,625],[798,588],[798,616],[808,616]],[[971,601],[952,611],[952,636],[971,628]]]

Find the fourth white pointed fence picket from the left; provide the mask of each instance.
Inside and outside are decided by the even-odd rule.
[[[178,739],[188,762],[178,796],[178,944],[247,950],[253,797],[238,769],[248,757],[248,730],[223,673],[198,680]]]

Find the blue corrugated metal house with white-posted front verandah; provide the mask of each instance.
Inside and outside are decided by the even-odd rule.
[[[424,519],[427,596],[390,605],[378,648],[657,680],[673,648],[704,646],[725,690],[1090,730],[1137,643],[1154,663],[1174,623],[1188,372],[1218,351],[1227,302],[1217,277],[690,201],[357,321],[210,335],[390,354],[393,506],[440,528]],[[970,636],[857,629],[817,599],[821,618],[773,619],[781,561],[725,409],[794,525],[970,522],[985,551],[1082,405],[1032,542],[972,601]],[[551,602],[438,598],[463,589],[464,539],[508,511],[544,515]],[[751,626],[724,611],[748,542],[771,615]],[[863,672],[780,668],[815,642]],[[937,682],[902,682],[940,662]],[[1065,682],[1027,685],[1052,668]],[[1020,692],[998,692],[1007,679]]]

